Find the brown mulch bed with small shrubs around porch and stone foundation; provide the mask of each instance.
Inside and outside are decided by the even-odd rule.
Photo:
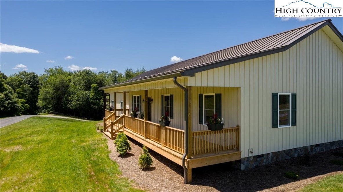
[[[295,191],[327,175],[343,173],[342,166],[330,163],[343,158],[333,155],[342,152],[340,148],[310,155],[309,161],[297,157],[245,171],[234,169],[231,163],[195,168],[192,183],[184,184],[184,170],[176,163],[149,150],[153,166],[143,171],[138,166],[142,144],[129,138],[132,150],[121,157],[113,140],[106,138],[109,157],[119,164],[122,176],[134,181],[135,188],[147,191]],[[286,171],[298,173],[300,180],[286,178]]]

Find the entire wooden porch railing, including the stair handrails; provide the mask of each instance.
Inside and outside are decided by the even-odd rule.
[[[146,139],[155,141],[162,146],[183,154],[185,152],[185,131],[172,128],[161,127],[157,123],[151,121],[144,121],[139,118],[132,118],[129,115],[121,115],[116,120],[115,113],[111,113],[104,118],[104,122],[110,120],[110,125],[105,129],[111,127],[111,138],[121,128],[125,127],[131,131],[138,133]],[[192,155],[199,155],[205,153],[219,153],[221,151],[230,149],[239,149],[239,127],[224,128],[223,130],[211,131],[192,131]]]

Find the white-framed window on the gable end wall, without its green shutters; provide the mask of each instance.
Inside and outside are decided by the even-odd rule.
[[[291,127],[292,122],[292,93],[278,93],[277,103],[278,103],[278,128]]]

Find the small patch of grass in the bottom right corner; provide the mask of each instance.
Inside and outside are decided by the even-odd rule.
[[[300,192],[343,191],[343,174],[331,175],[305,186]]]

